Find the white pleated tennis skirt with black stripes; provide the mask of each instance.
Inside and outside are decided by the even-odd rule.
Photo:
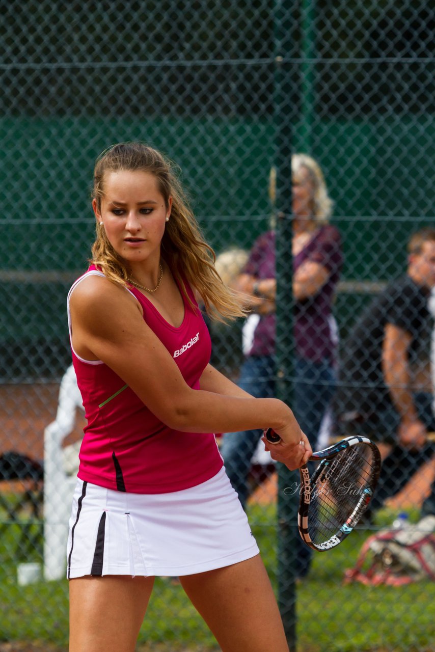
[[[79,480],[67,547],[67,577],[183,576],[258,554],[225,469],[170,494],[128,494]]]

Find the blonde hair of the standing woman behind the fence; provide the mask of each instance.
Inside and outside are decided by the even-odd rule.
[[[327,222],[332,215],[334,202],[328,194],[325,177],[319,164],[307,154],[292,155],[292,175],[305,168],[308,170],[313,186],[313,215],[316,222]],[[269,174],[269,198],[273,204],[277,197],[277,169],[271,168]]]

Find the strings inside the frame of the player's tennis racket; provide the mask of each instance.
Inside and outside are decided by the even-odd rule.
[[[308,532],[314,544],[352,529],[371,497],[376,463],[370,446],[355,445],[323,460],[313,474]]]

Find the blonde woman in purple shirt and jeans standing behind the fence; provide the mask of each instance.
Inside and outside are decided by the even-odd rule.
[[[275,176],[271,174],[271,200]],[[340,234],[328,223],[333,202],[322,170],[305,154],[292,157],[294,411],[314,447],[335,386],[337,333],[332,306],[342,267]],[[260,235],[234,288],[245,294],[254,312],[245,328],[245,362],[239,387],[252,396],[275,394],[276,292],[275,230]],[[260,430],[224,435],[221,447],[226,471],[242,505],[247,501],[247,476]],[[308,572],[310,551],[301,544],[295,574]]]

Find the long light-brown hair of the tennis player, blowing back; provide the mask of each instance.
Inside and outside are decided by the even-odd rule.
[[[155,176],[166,207],[172,198],[171,218],[162,237],[162,256],[192,308],[185,280],[202,298],[207,314],[217,321],[245,315],[235,293],[222,282],[215,269],[215,252],[205,242],[179,182],[179,169],[156,149],[141,142],[112,145],[98,156],[94,170],[93,198],[98,209],[104,196],[104,178],[110,171],[144,171]],[[112,282],[127,286],[130,271],[97,223],[92,260]]]

